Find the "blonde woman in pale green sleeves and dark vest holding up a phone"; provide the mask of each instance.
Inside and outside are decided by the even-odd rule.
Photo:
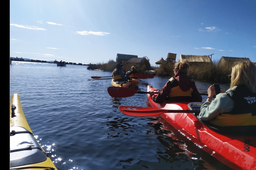
[[[198,116],[200,120],[227,133],[256,134],[256,66],[251,61],[232,68],[230,89],[225,93],[216,95],[213,101],[213,85],[207,93]]]

